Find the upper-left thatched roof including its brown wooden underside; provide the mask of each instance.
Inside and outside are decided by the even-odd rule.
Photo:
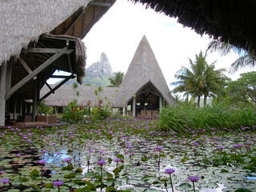
[[[115,0],[9,0],[0,6],[0,66],[45,33],[84,38]],[[79,14],[82,10],[82,14]],[[78,17],[79,14],[79,17]]]

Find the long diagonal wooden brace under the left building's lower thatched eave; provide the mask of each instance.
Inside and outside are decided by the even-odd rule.
[[[22,86],[24,86],[27,82],[29,82],[34,76],[42,72],[42,70],[46,69],[47,66],[50,66],[52,62],[54,62],[56,59],[60,58],[63,54],[63,51],[58,52],[57,54],[54,54],[51,58],[49,58],[46,62],[42,63],[41,66],[38,66],[37,69],[33,70],[30,74],[26,75],[25,78],[23,78],[20,82],[18,82],[15,86],[10,88],[10,90],[6,94],[6,98],[9,98],[12,94],[14,94],[17,90],[19,90]]]

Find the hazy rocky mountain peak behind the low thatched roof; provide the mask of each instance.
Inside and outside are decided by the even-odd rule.
[[[82,79],[83,84],[90,84],[90,86],[109,86],[108,78],[113,77],[114,73],[110,65],[109,59],[105,53],[101,54],[100,60],[94,62],[86,68],[86,77]],[[66,84],[73,84],[74,79],[66,82]]]

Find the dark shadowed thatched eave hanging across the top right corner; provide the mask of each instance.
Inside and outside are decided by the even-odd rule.
[[[131,0],[142,2],[157,12],[177,17],[198,34],[210,34],[256,53],[254,0]],[[171,35],[171,34],[170,34]]]

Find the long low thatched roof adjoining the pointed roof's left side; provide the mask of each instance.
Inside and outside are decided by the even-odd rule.
[[[76,99],[79,105],[82,106],[98,106],[98,101],[102,99],[102,105],[110,105],[113,107],[122,107],[122,103],[118,102],[118,87],[102,87],[102,91],[98,95],[95,91],[97,86],[78,86],[74,90],[72,85],[64,85],[46,98],[45,102],[48,106],[67,106],[68,103]],[[49,89],[44,86],[41,90],[43,96]],[[78,93],[78,95],[77,95]]]

